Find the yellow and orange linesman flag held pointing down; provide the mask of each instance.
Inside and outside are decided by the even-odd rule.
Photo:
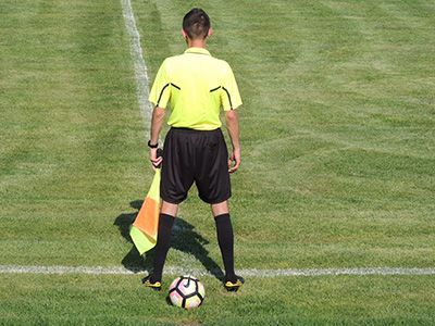
[[[161,170],[157,168],[147,198],[129,230],[133,242],[140,254],[154,248],[157,243],[160,214],[160,172]]]

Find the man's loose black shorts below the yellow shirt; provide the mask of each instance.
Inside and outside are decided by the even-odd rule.
[[[199,198],[215,204],[232,196],[228,150],[221,129],[171,128],[164,140],[160,197],[178,204],[194,181]]]

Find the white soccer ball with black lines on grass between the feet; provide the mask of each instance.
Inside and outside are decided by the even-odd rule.
[[[179,276],[170,286],[171,302],[176,306],[194,309],[202,303],[206,289],[195,276]]]

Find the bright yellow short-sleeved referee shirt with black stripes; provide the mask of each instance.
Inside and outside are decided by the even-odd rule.
[[[220,108],[235,110],[241,104],[236,79],[228,63],[202,48],[167,58],[157,74],[149,100],[165,109],[171,100],[167,124],[177,128],[220,128]]]

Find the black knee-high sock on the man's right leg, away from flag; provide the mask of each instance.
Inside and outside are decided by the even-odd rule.
[[[234,233],[229,214],[215,216],[214,221],[216,223],[217,242],[224,261],[225,281],[236,283],[237,277],[234,273]]]

